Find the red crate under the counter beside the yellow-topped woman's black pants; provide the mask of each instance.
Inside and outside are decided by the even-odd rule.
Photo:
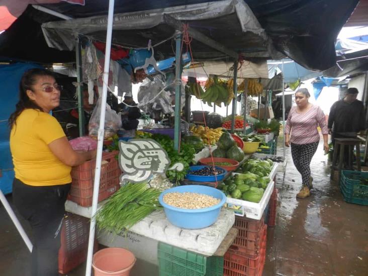
[[[59,273],[67,274],[87,258],[89,219],[68,213],[61,227]],[[94,252],[98,249],[95,239]]]

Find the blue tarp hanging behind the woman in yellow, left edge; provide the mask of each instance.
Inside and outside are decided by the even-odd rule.
[[[23,73],[31,68],[40,67],[32,63],[0,65],[0,189],[4,194],[12,192],[14,178],[13,161],[9,147],[8,118],[18,102],[19,82]]]

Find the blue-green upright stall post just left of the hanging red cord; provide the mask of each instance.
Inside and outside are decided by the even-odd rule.
[[[181,96],[181,33],[178,32],[175,36],[176,48],[176,63],[175,63],[175,113],[174,113],[174,149],[179,149],[180,142],[180,96]]]

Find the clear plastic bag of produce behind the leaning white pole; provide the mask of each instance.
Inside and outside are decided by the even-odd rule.
[[[89,136],[97,138],[99,127],[100,127],[100,113],[101,113],[101,98],[97,100],[94,112],[90,117],[88,124]],[[106,104],[106,114],[105,114],[105,135],[104,140],[114,136],[121,128],[122,122],[121,117],[117,114],[111,107]]]

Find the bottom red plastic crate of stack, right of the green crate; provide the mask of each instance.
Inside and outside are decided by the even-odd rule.
[[[247,257],[229,249],[224,255],[224,276],[261,276],[266,259],[266,237],[265,225],[261,250],[255,257]]]

